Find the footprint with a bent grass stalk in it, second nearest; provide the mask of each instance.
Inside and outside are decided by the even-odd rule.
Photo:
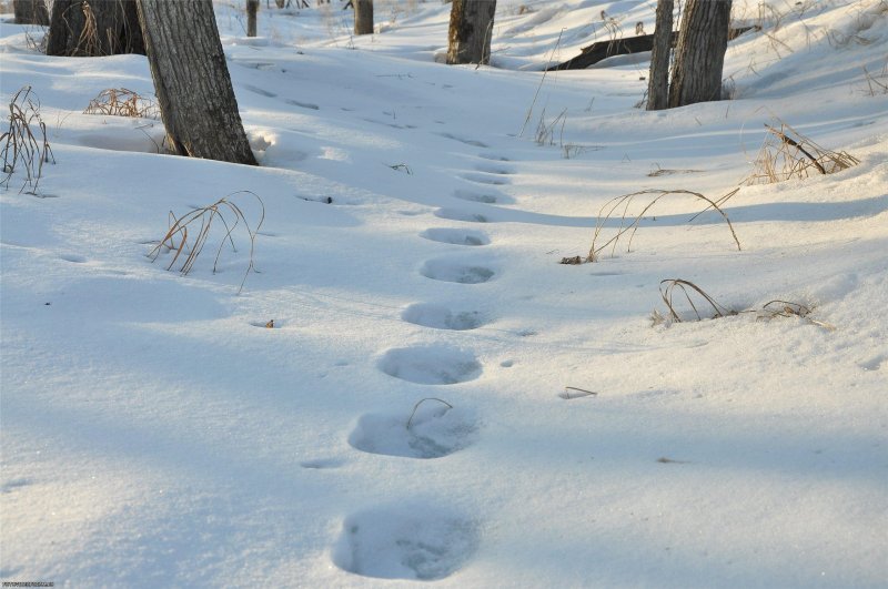
[[[475,420],[463,410],[430,398],[413,413],[364,415],[349,444],[367,454],[431,459],[470,446],[476,433]]]

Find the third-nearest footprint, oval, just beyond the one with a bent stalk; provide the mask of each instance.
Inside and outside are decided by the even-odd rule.
[[[420,385],[455,385],[483,372],[474,354],[443,345],[393,348],[377,366],[389,376]]]

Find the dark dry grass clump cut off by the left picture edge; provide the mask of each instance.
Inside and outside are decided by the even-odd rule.
[[[8,187],[9,180],[23,169],[24,186],[28,194],[37,195],[37,186],[43,175],[43,163],[56,163],[52,149],[47,140],[47,124],[40,118],[40,100],[30,85],[21,88],[9,103],[9,128],[0,135],[0,158],[3,159],[6,177],[0,185]]]

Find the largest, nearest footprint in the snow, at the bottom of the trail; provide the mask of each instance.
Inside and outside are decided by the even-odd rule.
[[[434,581],[460,570],[477,546],[473,521],[435,502],[412,501],[345,518],[332,557],[364,577]]]

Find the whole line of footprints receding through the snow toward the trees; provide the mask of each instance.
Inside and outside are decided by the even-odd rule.
[[[484,148],[481,142],[451,138]],[[483,186],[508,183],[514,173],[506,159],[482,155],[484,163],[463,175]],[[511,202],[494,191],[457,191],[455,197],[482,203]],[[437,217],[484,223],[483,215],[460,207],[443,209]],[[478,247],[490,245],[486,233],[471,229],[432,227],[421,237],[448,245]],[[483,284],[495,271],[466,254],[451,254],[427,260],[420,274],[428,280],[466,285]],[[471,306],[415,303],[401,314],[402,321],[428,327],[465,332],[491,321]],[[475,354],[445,344],[427,344],[389,349],[379,359],[383,373],[425,386],[450,386],[478,378],[484,367]],[[361,451],[431,460],[443,458],[474,444],[477,420],[471,408],[451,406],[443,399],[424,395],[412,413],[366,414],[349,436],[349,444]],[[477,524],[436,502],[413,506],[382,506],[347,517],[333,549],[333,562],[343,570],[364,577],[435,580],[460,570],[476,551]]]

